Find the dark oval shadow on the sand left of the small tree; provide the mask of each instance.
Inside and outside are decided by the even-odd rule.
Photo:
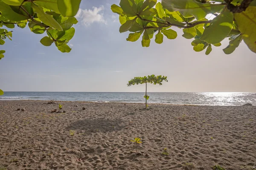
[[[66,127],[67,130],[83,130],[87,135],[96,132],[113,132],[119,131],[123,129],[125,126],[121,125],[121,119],[83,119],[77,122],[71,123],[69,126]]]

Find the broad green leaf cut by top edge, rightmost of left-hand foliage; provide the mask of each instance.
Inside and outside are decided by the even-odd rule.
[[[58,10],[64,17],[75,17],[81,0],[57,0]]]

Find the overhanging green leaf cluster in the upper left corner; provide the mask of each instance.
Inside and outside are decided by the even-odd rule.
[[[0,0],[0,45],[10,40],[12,31],[1,27],[25,28],[26,25],[35,34],[44,34],[40,42],[45,46],[55,43],[61,52],[70,52],[67,43],[75,34],[74,17],[79,10],[81,0]],[[3,53],[0,52],[0,59]]]

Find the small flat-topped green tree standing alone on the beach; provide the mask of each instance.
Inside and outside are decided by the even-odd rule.
[[[165,76],[155,76],[154,74],[152,74],[151,76],[148,76],[148,77],[146,77],[146,76],[144,76],[144,77],[134,77],[133,79],[131,79],[129,82],[128,82],[128,86],[131,86],[131,85],[138,85],[138,84],[146,84],[146,92],[145,92],[145,96],[144,96],[144,98],[145,98],[145,108],[147,108],[148,107],[148,105],[147,105],[147,100],[149,99],[149,96],[147,95],[147,83],[154,83],[154,85],[156,85],[156,84],[159,84],[159,85],[163,85],[162,84],[162,82],[163,82],[163,80],[164,81],[166,81],[166,82],[168,82],[168,80],[167,80],[167,77],[165,77]]]

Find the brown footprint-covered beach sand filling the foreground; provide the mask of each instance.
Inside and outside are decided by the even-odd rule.
[[[45,101],[0,101],[0,170],[256,166],[256,106],[60,103],[66,113],[50,113],[58,105]]]

